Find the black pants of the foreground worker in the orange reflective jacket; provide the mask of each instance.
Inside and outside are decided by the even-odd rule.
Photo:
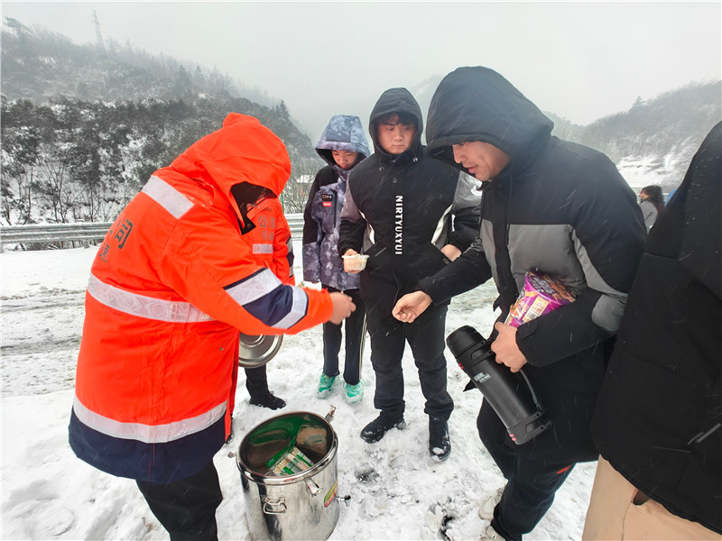
[[[223,500],[213,463],[180,481],[135,481],[171,541],[217,541],[216,509]]]

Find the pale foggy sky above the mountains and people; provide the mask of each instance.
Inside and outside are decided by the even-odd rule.
[[[3,16],[79,44],[96,41],[94,10],[106,41],[215,66],[282,98],[314,142],[331,115],[366,126],[386,88],[458,66],[495,69],[577,124],[722,78],[718,1],[2,2]]]

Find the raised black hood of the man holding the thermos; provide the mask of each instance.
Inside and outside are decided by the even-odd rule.
[[[512,167],[523,167],[554,127],[509,81],[481,66],[455,69],[441,80],[426,123],[430,156],[460,170],[464,168],[454,161],[452,144],[486,142],[504,151]]]

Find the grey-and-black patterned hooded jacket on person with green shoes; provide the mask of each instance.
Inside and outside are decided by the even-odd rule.
[[[352,115],[334,115],[321,133],[316,151],[329,165],[319,170],[310,187],[303,212],[303,280],[346,290],[358,289],[358,275],[347,274],[338,255],[339,215],[344,206],[348,173],[371,152],[361,120]],[[356,164],[344,170],[332,151],[358,152]]]

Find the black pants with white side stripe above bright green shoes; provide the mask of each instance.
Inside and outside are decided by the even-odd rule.
[[[338,291],[330,286],[329,293]],[[364,338],[366,335],[366,307],[358,289],[344,291],[356,305],[356,311],[348,316],[343,324],[323,324],[323,373],[329,378],[338,376],[338,353],[341,351],[341,326],[346,326],[346,358],[344,360],[344,381],[356,385],[361,379],[361,357],[364,354]]]

